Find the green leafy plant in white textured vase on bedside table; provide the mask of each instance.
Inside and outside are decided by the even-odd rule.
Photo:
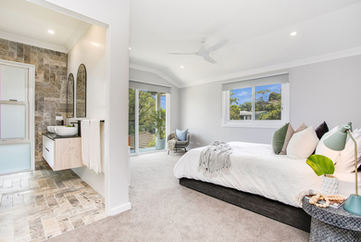
[[[322,194],[338,194],[338,181],[337,178],[333,176],[335,166],[330,158],[323,155],[311,155],[308,157],[306,163],[313,169],[317,176],[322,176]]]

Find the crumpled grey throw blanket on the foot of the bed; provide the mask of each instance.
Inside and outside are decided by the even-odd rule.
[[[199,158],[199,170],[205,174],[212,174],[231,166],[230,154],[232,148],[228,144],[215,141],[201,151]]]

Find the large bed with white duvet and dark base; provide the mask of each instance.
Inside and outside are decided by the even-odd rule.
[[[298,198],[310,189],[319,191],[321,178],[315,175],[305,159],[276,155],[268,144],[228,144],[232,147],[229,169],[214,175],[199,171],[199,157],[204,149],[200,147],[188,151],[179,159],[173,171],[175,177],[180,179],[181,185],[240,207],[249,209],[249,206],[252,206],[252,211],[308,231],[310,218],[300,208]],[[336,176],[340,183],[340,193],[345,196],[352,193],[354,175]],[[261,211],[264,208],[257,209],[254,204],[247,205],[257,201],[258,206],[278,212],[275,214],[275,211],[270,211],[268,214],[267,211]],[[289,217],[290,213],[291,216],[296,216],[291,222],[285,218]]]

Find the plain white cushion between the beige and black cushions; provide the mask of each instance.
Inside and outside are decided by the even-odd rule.
[[[308,158],[315,150],[319,139],[312,127],[294,133],[287,146],[287,155],[291,158]]]

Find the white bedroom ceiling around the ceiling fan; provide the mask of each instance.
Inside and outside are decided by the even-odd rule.
[[[168,54],[198,50],[204,38],[228,40],[212,54],[217,64]],[[352,54],[361,47],[361,0],[132,0],[131,47],[133,65],[160,69],[179,86]]]

